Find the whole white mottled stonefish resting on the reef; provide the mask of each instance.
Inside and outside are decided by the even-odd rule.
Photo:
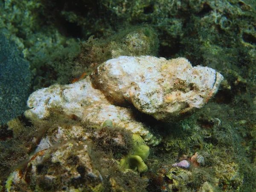
[[[157,145],[148,128],[134,117],[131,104],[161,121],[173,121],[201,108],[217,92],[223,76],[209,67],[192,67],[186,58],[166,60],[153,56],[120,56],[99,65],[74,84],[35,91],[25,112],[30,119],[46,119],[62,111],[84,121],[102,124],[111,119]]]

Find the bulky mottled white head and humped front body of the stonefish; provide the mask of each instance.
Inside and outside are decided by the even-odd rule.
[[[121,56],[106,61],[93,74],[93,84],[116,105],[131,102],[158,120],[172,121],[201,108],[223,76],[209,67],[192,67],[186,58]]]

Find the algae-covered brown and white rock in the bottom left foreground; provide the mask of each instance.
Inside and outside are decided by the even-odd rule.
[[[135,185],[137,182],[140,186]],[[135,187],[145,191],[145,186],[146,180],[136,172],[122,172],[115,160],[102,152],[96,153],[89,143],[67,142],[38,151],[23,172],[12,173],[5,188],[8,191],[22,188],[38,192],[105,192],[111,188],[134,191]]]

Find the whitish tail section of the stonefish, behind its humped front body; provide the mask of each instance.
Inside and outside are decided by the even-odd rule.
[[[68,115],[82,117],[84,107],[93,102],[108,103],[100,90],[92,87],[89,78],[78,81],[74,84],[59,85],[35,91],[29,96],[25,111],[28,118],[37,116],[39,119],[47,118],[50,111],[64,111]]]

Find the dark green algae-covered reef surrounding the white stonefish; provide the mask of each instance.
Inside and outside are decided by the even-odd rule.
[[[181,120],[135,112],[162,138],[150,149],[111,122],[24,116],[35,90],[120,55],[184,57],[224,81]],[[0,0],[0,110],[0,191],[254,192],[256,1]]]

